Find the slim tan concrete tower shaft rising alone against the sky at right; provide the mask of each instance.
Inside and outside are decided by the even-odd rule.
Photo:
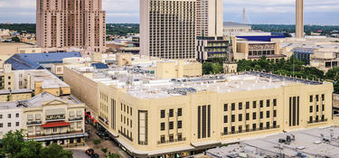
[[[296,37],[304,38],[304,0],[296,0]]]

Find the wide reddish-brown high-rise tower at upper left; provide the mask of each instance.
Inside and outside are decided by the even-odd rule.
[[[106,51],[101,0],[36,0],[36,41],[45,49]]]

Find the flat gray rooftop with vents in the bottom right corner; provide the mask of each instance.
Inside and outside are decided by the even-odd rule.
[[[291,141],[287,141],[289,136]],[[282,140],[283,143],[279,143]],[[248,157],[281,156],[285,157],[339,157],[339,127],[327,126],[299,130],[290,133],[270,135],[265,138],[240,142],[228,147],[207,151],[212,157],[247,154]]]

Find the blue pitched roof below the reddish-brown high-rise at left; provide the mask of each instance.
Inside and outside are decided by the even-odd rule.
[[[42,70],[41,64],[62,63],[64,58],[81,57],[79,51],[48,53],[17,53],[5,61],[13,70]]]

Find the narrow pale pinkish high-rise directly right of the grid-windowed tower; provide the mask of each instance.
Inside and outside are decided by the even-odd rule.
[[[222,0],[196,0],[196,36],[222,36]]]

